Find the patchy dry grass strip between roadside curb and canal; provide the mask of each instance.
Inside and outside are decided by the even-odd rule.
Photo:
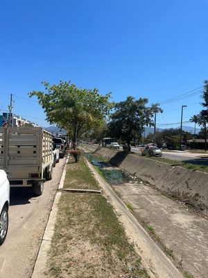
[[[83,157],[68,163],[64,187],[101,189]],[[102,195],[64,193],[46,277],[149,277],[114,208]]]

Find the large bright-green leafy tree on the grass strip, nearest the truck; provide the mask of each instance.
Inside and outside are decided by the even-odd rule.
[[[47,121],[72,133],[73,149],[76,149],[77,138],[102,121],[112,108],[110,93],[102,96],[97,89],[77,88],[70,81],[60,81],[58,85],[42,83],[45,92],[33,90],[28,95],[37,96]]]

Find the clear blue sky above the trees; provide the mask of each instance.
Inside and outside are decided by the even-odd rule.
[[[41,81],[149,104],[196,89],[208,79],[207,10],[207,0],[1,1],[0,113],[12,93],[14,113],[49,126],[27,95]],[[162,104],[157,126],[179,126],[182,105],[189,121],[201,101],[198,93]]]

